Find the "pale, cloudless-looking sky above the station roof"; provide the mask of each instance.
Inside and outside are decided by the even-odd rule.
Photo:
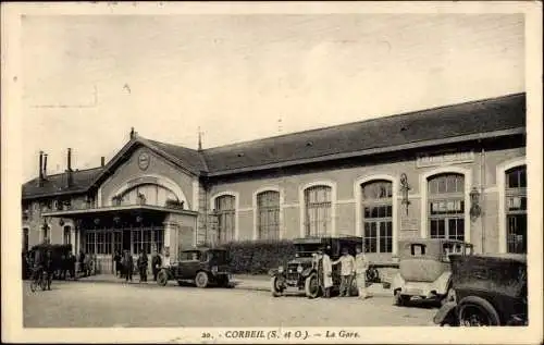
[[[26,15],[23,177],[524,91],[522,14]]]

